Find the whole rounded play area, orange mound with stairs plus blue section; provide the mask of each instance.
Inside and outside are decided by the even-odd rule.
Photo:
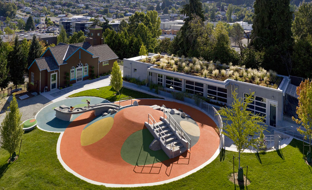
[[[116,102],[116,112],[110,109],[98,114],[99,110],[90,109],[72,113],[69,121],[55,116],[58,107],[86,108],[87,99],[95,107],[100,105],[99,109],[108,103],[96,97],[69,98],[46,106],[36,116],[38,128],[61,133],[58,159],[67,171],[85,181],[107,187],[159,185],[196,172],[219,153],[214,121],[176,102],[139,99],[133,100],[139,106],[131,106],[128,100],[120,108]],[[178,127],[182,128],[179,132]]]

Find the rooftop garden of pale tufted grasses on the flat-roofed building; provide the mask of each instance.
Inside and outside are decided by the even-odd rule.
[[[205,61],[203,58],[193,57],[189,59],[184,56],[178,58],[173,55],[163,56],[158,54],[152,57],[145,57],[139,61],[155,64],[158,69],[202,76],[220,81],[230,78],[274,89],[277,89],[283,80],[283,77],[277,76],[277,73],[272,70],[266,71],[263,68],[259,68],[259,70],[247,69],[244,65],[233,66],[232,63],[227,65],[221,64],[219,61],[214,63],[213,61]]]

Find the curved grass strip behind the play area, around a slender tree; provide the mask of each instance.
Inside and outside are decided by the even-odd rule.
[[[85,90],[82,92],[78,92],[76,94],[72,94],[69,97],[78,97],[78,96],[95,96],[95,97],[100,97],[100,98],[104,98],[110,102],[115,102],[118,101],[122,98],[126,98],[131,96],[132,98],[158,98],[161,99],[159,97],[156,96],[152,96],[149,94],[145,94],[143,92],[138,92],[138,91],[134,91],[134,90],[130,90],[128,88],[123,88],[120,90],[120,92],[122,93],[121,96],[117,95],[115,96],[114,94],[116,93],[116,91],[114,91],[111,86],[105,86],[98,89],[91,89],[91,90]]]

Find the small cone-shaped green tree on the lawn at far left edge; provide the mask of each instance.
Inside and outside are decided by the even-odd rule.
[[[23,125],[15,95],[7,108],[5,117],[1,123],[0,136],[1,148],[11,154],[19,147],[23,131]]]

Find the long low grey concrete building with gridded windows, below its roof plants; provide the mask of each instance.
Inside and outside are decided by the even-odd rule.
[[[149,53],[149,58],[157,54]],[[186,92],[208,98],[212,102],[230,105],[233,101],[231,92],[237,91],[239,97],[255,92],[255,100],[249,105],[249,110],[254,114],[265,116],[265,124],[272,127],[280,127],[285,110],[284,101],[286,92],[293,85],[288,76],[279,76],[281,82],[277,89],[265,87],[253,83],[234,79],[224,81],[202,76],[194,76],[185,73],[159,69],[154,64],[141,62],[145,56],[124,59],[123,76],[130,78],[148,78],[164,88]],[[291,93],[288,93],[291,95]],[[292,95],[294,96],[294,95]]]

